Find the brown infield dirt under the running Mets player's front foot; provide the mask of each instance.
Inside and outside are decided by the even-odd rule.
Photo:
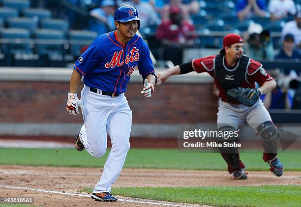
[[[35,206],[98,206],[89,198],[89,194],[79,192],[84,187],[93,187],[99,180],[101,168],[63,168],[35,166],[0,166],[1,197],[33,196]],[[188,187],[188,186],[254,186],[274,184],[301,184],[301,172],[285,172],[282,177],[274,177],[271,172],[249,172],[249,179],[234,180],[224,171],[191,171],[191,170],[152,170],[152,169],[123,169],[114,187]],[[7,186],[7,187],[3,187]],[[8,188],[21,187],[21,189]],[[29,189],[31,188],[31,189]],[[37,192],[34,189],[52,190],[56,192]],[[65,195],[61,193],[78,193]],[[142,206],[157,207],[143,199],[119,197],[117,203],[103,203],[101,206]],[[128,199],[129,201],[123,201]],[[146,203],[130,203],[146,202]],[[159,202],[164,203],[164,202]],[[169,203],[168,203],[169,204]],[[178,205],[171,204],[170,206]],[[191,206],[179,204],[182,206]],[[195,206],[195,205],[194,205]]]

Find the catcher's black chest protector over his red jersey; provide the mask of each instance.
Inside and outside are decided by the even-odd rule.
[[[215,57],[215,81],[225,90],[241,87],[246,79],[246,71],[250,58],[242,55],[239,64],[234,69],[226,68],[223,64],[223,58],[224,54],[219,54]]]

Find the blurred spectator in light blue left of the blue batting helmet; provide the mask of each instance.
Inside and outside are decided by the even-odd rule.
[[[89,30],[97,32],[99,35],[115,30],[114,12],[116,4],[114,0],[102,0],[100,7],[90,11],[92,17],[89,21]]]

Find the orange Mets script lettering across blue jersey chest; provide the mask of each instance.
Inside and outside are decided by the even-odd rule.
[[[119,52],[115,52],[113,55],[113,58],[110,62],[107,62],[105,64],[106,68],[114,68],[115,66],[120,67],[124,62],[125,64],[133,61],[138,61],[139,59],[139,50],[136,49],[136,47],[133,47],[133,49],[130,51],[129,55],[126,55],[125,60],[121,60],[123,51],[120,50]]]

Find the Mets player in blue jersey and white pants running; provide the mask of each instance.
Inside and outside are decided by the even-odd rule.
[[[124,92],[133,71],[138,68],[144,80],[141,91],[151,97],[157,77],[147,44],[136,34],[140,18],[135,7],[122,5],[115,10],[117,30],[98,36],[75,62],[68,93],[67,111],[78,115],[82,108],[84,125],[76,137],[76,149],[101,157],[107,148],[107,131],[112,148],[103,173],[91,198],[96,201],[117,201],[111,186],[117,180],[130,148],[132,111]],[[77,97],[81,78],[84,88]]]

